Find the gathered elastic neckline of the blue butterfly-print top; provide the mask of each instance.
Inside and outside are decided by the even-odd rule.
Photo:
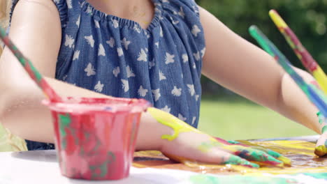
[[[154,4],[154,17],[152,18],[152,21],[150,22],[150,24],[147,26],[146,29],[144,29],[142,26],[140,26],[138,22],[134,20],[129,20],[115,15],[104,13],[101,10],[94,8],[94,6],[92,6],[92,4],[87,2],[87,0],[80,0],[80,5],[85,13],[94,16],[94,18],[96,18],[98,21],[112,22],[112,20],[116,20],[117,23],[119,24],[119,27],[128,26],[131,29],[138,29],[138,30],[143,30],[145,32],[150,32],[152,31],[152,29],[154,29],[159,25],[159,21],[161,19],[161,15],[163,11],[161,3],[159,3],[159,1],[161,0],[151,0],[151,1]]]

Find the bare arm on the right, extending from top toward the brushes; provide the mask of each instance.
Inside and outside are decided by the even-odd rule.
[[[203,74],[240,95],[321,133],[317,108],[266,52],[201,8],[206,53]],[[312,79],[307,72],[301,75]]]

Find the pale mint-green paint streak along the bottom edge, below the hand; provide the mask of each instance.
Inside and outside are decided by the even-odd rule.
[[[275,178],[270,176],[208,176],[208,175],[196,175],[191,176],[189,181],[193,184],[222,184],[222,183],[251,183],[251,184],[289,184],[300,183],[291,178]]]

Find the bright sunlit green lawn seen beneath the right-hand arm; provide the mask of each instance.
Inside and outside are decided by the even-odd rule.
[[[223,139],[315,135],[312,130],[247,100],[202,100],[200,130]]]

